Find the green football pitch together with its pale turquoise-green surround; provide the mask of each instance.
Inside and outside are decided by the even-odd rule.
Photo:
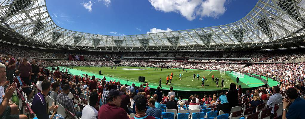
[[[159,86],[159,79],[162,78],[162,88],[168,90],[170,86],[174,87],[174,90],[180,91],[215,91],[221,90],[220,87],[216,86],[216,83],[212,81],[212,75],[215,76],[215,79],[218,77],[219,85],[221,86],[221,79],[224,79],[224,89],[229,89],[230,83],[235,83],[236,85],[241,85],[242,88],[251,88],[251,87],[259,87],[263,86],[264,83],[259,79],[254,77],[249,77],[244,75],[244,77],[240,77],[239,75],[229,73],[228,71],[225,74],[221,74],[219,71],[213,70],[196,70],[196,69],[187,69],[187,71],[183,72],[182,69],[174,69],[174,68],[164,68],[159,71],[155,68],[143,68],[143,67],[117,67],[117,69],[110,69],[106,67],[62,67],[60,66],[60,71],[68,71],[69,74],[72,75],[95,75],[96,78],[102,79],[103,76],[106,77],[107,81],[116,79],[117,81],[120,80],[121,84],[128,84],[131,85],[135,83],[136,86],[140,86],[143,82],[138,82],[139,76],[145,77],[145,82],[149,83],[151,88],[156,89]],[[49,67],[48,69],[52,69]],[[99,75],[99,71],[102,71],[102,75]],[[174,79],[172,80],[170,85],[166,85],[166,77],[173,72]],[[179,74],[182,74],[182,80],[179,80]],[[193,80],[193,74],[200,75],[199,81]],[[202,77],[205,76],[207,81],[205,81],[205,86],[201,87],[202,84]],[[196,76],[197,77],[197,76]],[[195,77],[195,78],[196,78]],[[239,77],[239,83],[236,83],[236,77]],[[234,80],[232,80],[234,79]],[[128,80],[128,81],[127,81]],[[270,80],[268,82],[269,86],[275,86],[278,82]]]

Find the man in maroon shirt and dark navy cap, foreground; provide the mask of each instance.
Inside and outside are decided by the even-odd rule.
[[[98,118],[99,119],[129,119],[130,115],[126,113],[126,111],[121,108],[121,96],[124,95],[125,92],[120,92],[117,89],[112,89],[109,91],[107,96],[107,103],[102,105],[99,109]],[[146,108],[146,103],[145,103]],[[144,111],[145,113],[145,111]]]

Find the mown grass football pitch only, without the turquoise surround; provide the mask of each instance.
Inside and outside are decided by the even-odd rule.
[[[150,86],[159,86],[159,79],[162,78],[162,89],[163,88],[169,88],[170,86],[173,86],[175,89],[181,89],[181,90],[220,90],[221,86],[221,79],[224,79],[225,87],[224,89],[228,89],[231,82],[234,82],[229,76],[225,74],[221,74],[219,71],[213,70],[210,72],[210,70],[195,70],[195,69],[187,69],[185,72],[183,72],[182,69],[167,69],[163,68],[161,71],[161,68],[159,68],[159,71],[155,68],[143,68],[143,67],[117,67],[117,69],[110,69],[106,67],[74,67],[74,70],[78,71],[84,71],[84,72],[90,72],[93,74],[98,74],[99,70],[102,71],[101,76],[106,76],[106,79],[120,79],[120,82],[122,80],[129,80],[129,83],[137,82],[138,84],[142,84],[142,82],[138,82],[139,76],[145,77],[145,82],[148,82]],[[69,69],[70,71],[71,69]],[[171,81],[171,84],[166,85],[166,77],[167,75],[170,75],[170,73],[173,72],[173,80]],[[182,74],[182,80],[179,80],[179,74]],[[200,75],[199,81],[196,81],[193,79],[193,74]],[[73,73],[72,73],[73,74]],[[79,75],[79,74],[78,74]],[[216,83],[212,81],[212,75],[215,76],[214,80],[218,77],[219,84],[217,87]],[[205,86],[201,87],[202,84],[202,77],[205,76],[207,81],[205,81]],[[124,84],[124,83],[123,83]]]

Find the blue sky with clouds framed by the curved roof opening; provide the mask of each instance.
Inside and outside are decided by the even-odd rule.
[[[65,29],[134,35],[218,26],[246,16],[256,0],[47,0],[54,22]]]

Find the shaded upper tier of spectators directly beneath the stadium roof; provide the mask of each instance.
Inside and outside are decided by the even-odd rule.
[[[10,50],[14,49],[14,50]],[[17,58],[64,58],[67,55],[83,55],[96,60],[122,60],[124,57],[171,57],[171,58],[251,58],[254,62],[283,62],[305,57],[304,50],[285,51],[206,51],[206,52],[86,52],[44,50],[5,44],[0,46],[0,56],[11,53]],[[158,59],[156,59],[158,60]],[[162,61],[162,60],[161,60]],[[167,61],[167,60],[166,60]],[[204,61],[204,60],[201,60]],[[215,60],[213,62],[247,62],[246,60]]]

